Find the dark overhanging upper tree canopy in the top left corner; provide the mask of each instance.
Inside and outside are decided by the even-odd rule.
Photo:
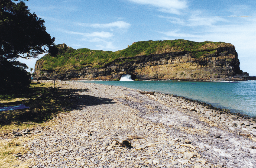
[[[23,1],[0,0],[0,56],[37,58],[38,54],[48,53],[55,45],[54,39],[46,32],[44,20],[30,13]]]

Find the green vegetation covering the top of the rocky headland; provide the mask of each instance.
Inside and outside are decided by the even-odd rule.
[[[73,68],[80,70],[85,67],[100,68],[107,63],[115,61],[116,64],[128,63],[135,61],[135,56],[161,54],[171,52],[191,52],[192,56],[196,58],[204,57],[214,54],[216,48],[223,42],[193,42],[189,40],[163,40],[163,41],[140,41],[133,43],[124,50],[116,52],[90,50],[90,49],[72,49],[70,47],[60,48],[58,44],[57,54],[47,54],[42,57],[43,61],[41,69],[45,70],[67,70]],[[232,45],[232,44],[230,44]]]

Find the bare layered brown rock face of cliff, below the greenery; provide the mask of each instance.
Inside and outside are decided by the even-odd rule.
[[[40,77],[40,71],[44,71],[45,76],[51,79],[81,80],[118,80],[123,74],[141,80],[241,80],[249,76],[240,70],[235,47],[228,43],[206,43],[196,53],[165,48],[158,48],[152,54],[141,53],[132,57],[119,57],[98,67],[93,63],[80,69],[73,66],[47,70],[43,67],[49,62],[40,59],[35,64],[35,74]],[[198,53],[201,55],[196,55]]]

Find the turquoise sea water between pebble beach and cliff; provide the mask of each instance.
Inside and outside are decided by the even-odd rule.
[[[256,116],[256,81],[77,81],[174,94]]]

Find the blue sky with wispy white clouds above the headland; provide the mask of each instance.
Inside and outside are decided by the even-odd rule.
[[[31,12],[45,20],[46,31],[56,37],[56,44],[117,51],[144,40],[221,41],[233,44],[241,70],[256,76],[256,1],[29,0],[25,3]],[[33,68],[36,61],[19,60]]]

